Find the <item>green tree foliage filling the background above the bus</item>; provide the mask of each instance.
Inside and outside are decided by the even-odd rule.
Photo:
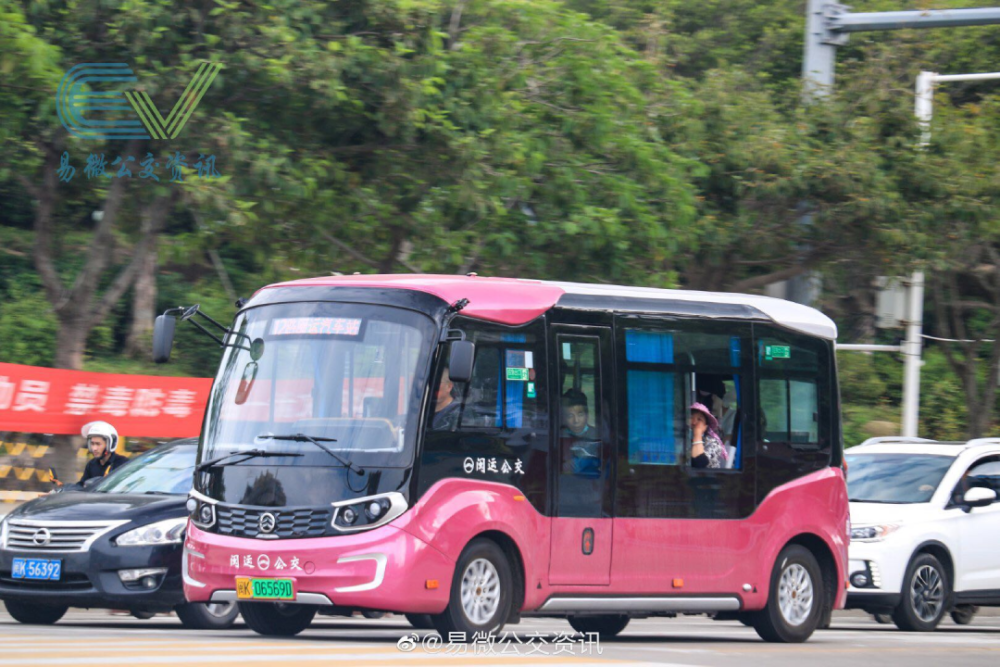
[[[78,168],[53,207],[71,285],[108,195],[83,161],[123,150],[66,136],[56,86],[75,64],[123,60],[161,111],[200,62],[224,65],[181,137],[142,146],[213,153],[223,178],[132,182],[109,251],[120,269],[150,202],[180,191],[158,311],[199,302],[225,322],[226,281],[248,296],[330,272],[753,291],[804,266],[852,322],[845,295],[873,276],[944,270],[1000,239],[996,85],[942,89],[927,149],[909,92],[920,69],[995,69],[1000,31],[853,35],[837,90],[807,107],[802,13],[776,0],[0,0],[0,358],[52,363],[27,231],[45,151]],[[218,348],[190,326],[168,366],[122,359],[131,317],[123,298],[91,332],[88,369],[213,373]],[[988,324],[970,317],[970,335],[991,337]],[[927,359],[922,428],[956,437],[963,388],[939,351]],[[899,361],[839,360],[848,442],[898,422]]]

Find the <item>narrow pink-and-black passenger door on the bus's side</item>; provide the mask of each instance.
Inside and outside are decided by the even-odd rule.
[[[614,373],[611,329],[554,325],[552,585],[611,577]],[[556,412],[558,410],[558,412]]]

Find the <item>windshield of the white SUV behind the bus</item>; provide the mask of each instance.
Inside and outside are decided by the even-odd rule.
[[[848,454],[847,495],[859,503],[926,503],[954,460],[930,454]]]

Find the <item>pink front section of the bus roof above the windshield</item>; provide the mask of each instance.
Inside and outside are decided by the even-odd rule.
[[[530,322],[552,308],[565,293],[556,285],[538,280],[429,274],[324,276],[277,283],[263,289],[309,286],[410,289],[433,294],[448,304],[468,299],[463,315],[509,325]]]

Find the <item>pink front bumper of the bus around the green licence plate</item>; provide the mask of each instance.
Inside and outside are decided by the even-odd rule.
[[[455,571],[440,551],[391,525],[260,540],[189,524],[183,560],[184,595],[191,602],[236,601],[237,578],[290,579],[295,599],[285,602],[414,614],[444,610]]]

